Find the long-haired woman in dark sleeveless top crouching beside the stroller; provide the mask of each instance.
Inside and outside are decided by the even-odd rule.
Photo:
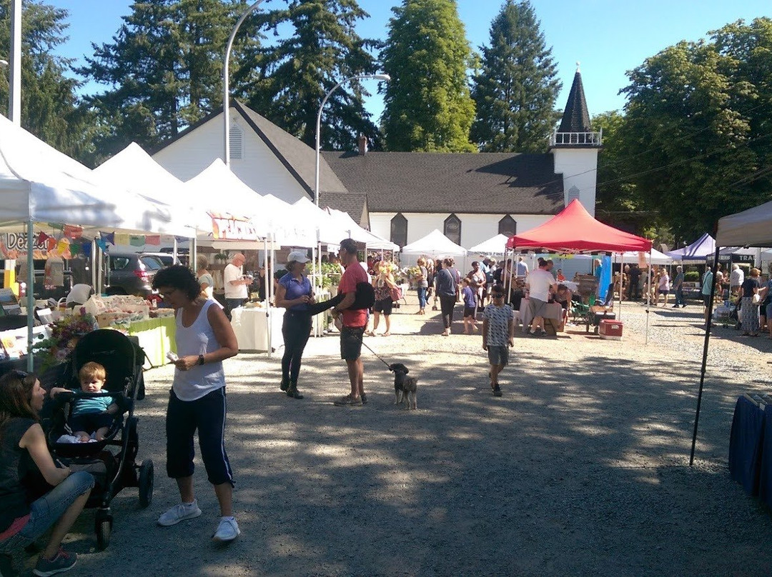
[[[0,553],[32,544],[53,525],[36,575],[54,575],[75,566],[77,556],[61,548],[62,539],[94,486],[90,473],[73,473],[54,464],[38,417],[45,397],[34,375],[12,371],[0,378]],[[42,496],[30,494],[25,483],[38,471],[53,485]]]

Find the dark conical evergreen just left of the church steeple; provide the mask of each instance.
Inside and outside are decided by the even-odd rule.
[[[472,140],[483,152],[543,152],[560,115],[560,81],[530,2],[506,0],[473,80]]]

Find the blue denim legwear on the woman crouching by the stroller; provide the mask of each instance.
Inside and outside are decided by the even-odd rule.
[[[22,530],[0,542],[0,553],[10,553],[30,545],[59,521],[65,511],[80,495],[94,486],[94,477],[88,471],[75,471],[29,506],[29,521]]]

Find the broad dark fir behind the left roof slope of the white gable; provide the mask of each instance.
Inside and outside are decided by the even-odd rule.
[[[225,44],[246,0],[144,0],[80,69],[108,86],[89,101],[109,156],[132,140],[151,148],[222,105]],[[239,35],[243,46],[250,35]],[[234,57],[232,56],[232,60]]]

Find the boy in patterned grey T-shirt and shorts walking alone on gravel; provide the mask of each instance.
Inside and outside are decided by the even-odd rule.
[[[501,396],[499,373],[509,361],[508,346],[515,345],[515,313],[510,305],[504,303],[504,289],[500,285],[493,287],[493,304],[482,312],[482,350],[488,351],[490,363],[490,388],[493,396]]]

